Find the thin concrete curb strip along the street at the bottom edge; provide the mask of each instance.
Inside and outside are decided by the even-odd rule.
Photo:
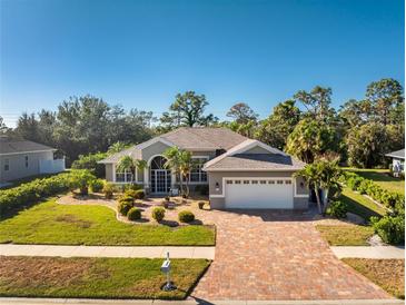
[[[404,304],[404,301],[389,298],[389,299],[308,299],[308,301],[208,301],[208,299],[194,299],[188,298],[186,301],[164,301],[164,299],[92,299],[92,298],[28,298],[28,297],[0,297],[2,305],[26,305],[26,304],[47,304],[47,305],[389,305],[389,304]]]

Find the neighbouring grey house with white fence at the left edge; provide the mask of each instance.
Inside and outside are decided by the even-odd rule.
[[[57,149],[28,141],[0,138],[0,183],[65,170],[65,159],[53,159]]]

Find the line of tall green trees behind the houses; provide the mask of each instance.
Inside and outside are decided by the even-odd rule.
[[[57,111],[22,114],[13,129],[0,117],[0,132],[56,147],[68,164],[79,155],[138,144],[180,126],[227,127],[306,163],[330,154],[350,166],[384,166],[384,154],[404,148],[405,100],[397,80],[373,81],[363,99],[350,99],[339,109],[331,107],[331,95],[330,88],[320,86],[299,90],[277,104],[265,119],[248,104],[237,102],[224,121],[207,114],[206,96],[195,91],[178,94],[160,118],[92,96],[71,97]]]

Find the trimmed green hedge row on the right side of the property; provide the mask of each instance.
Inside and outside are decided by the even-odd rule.
[[[400,211],[405,208],[405,196],[402,194],[393,193],[382,188],[373,180],[365,179],[359,175],[350,171],[345,171],[344,175],[345,184],[353,190],[357,190],[360,194],[366,194],[374,200],[382,205],[395,210]]]

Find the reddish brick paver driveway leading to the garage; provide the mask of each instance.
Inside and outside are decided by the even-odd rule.
[[[192,297],[390,298],[338,260],[308,216],[212,210],[201,218],[217,225],[216,258]]]

